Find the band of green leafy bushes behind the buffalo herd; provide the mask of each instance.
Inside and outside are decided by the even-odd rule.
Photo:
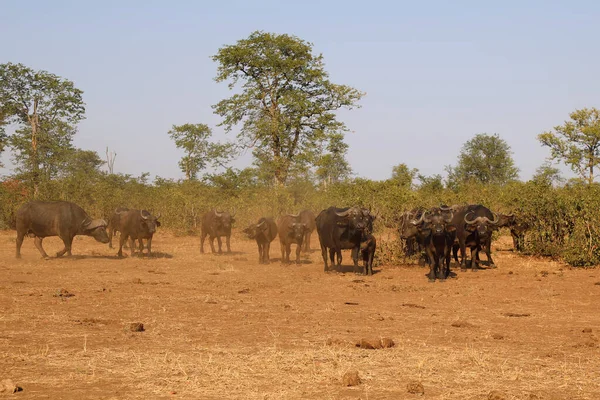
[[[393,238],[382,244],[380,262],[400,260],[394,244],[398,215],[416,206],[480,203],[498,212],[514,212],[530,226],[525,251],[533,255],[564,259],[574,266],[600,263],[600,185],[572,184],[554,188],[540,182],[506,185],[467,184],[455,190],[410,189],[393,180],[355,179],[324,190],[309,182],[295,182],[285,188],[259,185],[208,185],[199,181],[97,174],[69,177],[46,184],[40,192],[45,200],[68,200],[81,205],[90,215],[107,219],[118,206],[145,208],[162,214],[165,228],[180,234],[194,234],[204,212],[218,208],[236,213],[237,227],[260,216],[279,216],[304,208],[320,211],[331,205],[361,205],[377,214],[376,229]],[[0,227],[14,227],[15,210],[30,198],[18,181],[0,186]]]

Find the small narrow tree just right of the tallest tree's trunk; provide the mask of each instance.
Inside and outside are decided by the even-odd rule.
[[[346,160],[348,145],[344,142],[344,135],[333,133],[327,144],[327,153],[317,161],[317,178],[324,186],[338,183],[347,179],[352,174],[352,168]]]

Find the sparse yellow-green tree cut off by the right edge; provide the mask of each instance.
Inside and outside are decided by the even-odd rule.
[[[600,110],[584,108],[569,116],[570,121],[538,135],[538,140],[550,148],[552,159],[563,161],[592,184],[594,168],[600,164]]]

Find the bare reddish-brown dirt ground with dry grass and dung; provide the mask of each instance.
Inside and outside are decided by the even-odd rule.
[[[70,259],[26,239],[15,260],[1,232],[0,381],[48,399],[600,398],[600,270],[504,250],[496,270],[429,283],[412,265],[324,274],[316,251],[282,265],[273,244],[270,265],[240,237],[201,255],[165,231],[150,258],[79,237]],[[381,337],[395,347],[354,345]]]

